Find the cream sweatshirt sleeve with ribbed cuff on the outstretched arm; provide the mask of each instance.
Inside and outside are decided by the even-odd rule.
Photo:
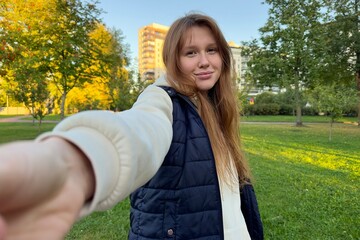
[[[155,175],[172,140],[172,102],[151,85],[127,111],[85,111],[60,122],[52,132],[75,144],[95,172],[95,194],[80,216],[105,210]]]

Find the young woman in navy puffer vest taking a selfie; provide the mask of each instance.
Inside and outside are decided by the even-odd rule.
[[[232,56],[216,22],[169,29],[166,75],[121,113],[87,111],[0,147],[0,239],[56,239],[130,195],[129,239],[262,239],[240,149]]]

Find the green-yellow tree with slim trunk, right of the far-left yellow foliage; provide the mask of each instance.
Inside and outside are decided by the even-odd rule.
[[[75,86],[91,81],[92,45],[89,34],[100,21],[96,2],[56,0],[45,48],[51,78],[61,93],[61,118],[65,114],[66,96]]]

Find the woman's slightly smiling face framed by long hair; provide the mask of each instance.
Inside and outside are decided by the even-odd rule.
[[[213,34],[207,27],[191,27],[180,51],[181,71],[195,79],[200,91],[210,90],[219,80],[222,61]]]

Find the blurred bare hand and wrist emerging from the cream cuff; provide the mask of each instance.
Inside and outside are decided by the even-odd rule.
[[[63,139],[0,146],[0,239],[63,239],[94,185],[90,162]]]

